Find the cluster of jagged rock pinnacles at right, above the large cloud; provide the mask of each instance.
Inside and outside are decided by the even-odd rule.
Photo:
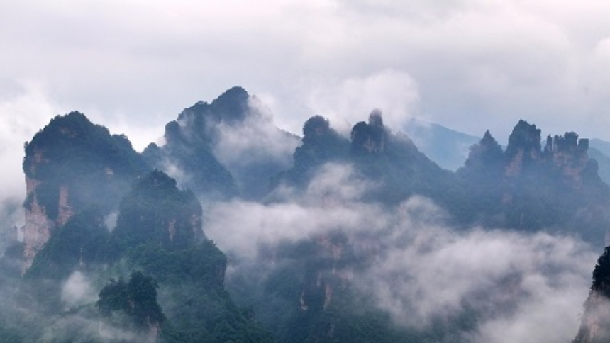
[[[502,152],[489,132],[457,171],[483,225],[577,231],[601,245],[610,227],[610,187],[589,159],[589,140],[573,132],[548,136],[520,120]]]

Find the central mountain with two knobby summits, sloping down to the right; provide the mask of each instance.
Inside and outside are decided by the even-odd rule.
[[[428,159],[406,135],[390,133],[378,110],[367,122],[353,126],[350,140],[340,137],[321,116],[306,121],[303,135],[294,164],[283,176],[287,185],[304,189],[326,164],[350,164],[362,179],[377,185],[364,200],[397,203],[419,194],[453,206],[447,201],[454,195],[453,174]]]

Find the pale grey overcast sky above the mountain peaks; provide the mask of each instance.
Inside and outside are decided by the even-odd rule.
[[[418,117],[505,143],[523,118],[610,140],[609,18],[607,0],[3,0],[0,162],[72,110],[141,150],[234,85],[296,133],[378,107],[394,130]]]

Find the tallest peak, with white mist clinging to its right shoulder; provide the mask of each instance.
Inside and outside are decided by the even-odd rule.
[[[150,144],[143,156],[200,196],[261,198],[289,167],[297,142],[258,99],[233,87],[184,109],[165,125],[165,145]]]

